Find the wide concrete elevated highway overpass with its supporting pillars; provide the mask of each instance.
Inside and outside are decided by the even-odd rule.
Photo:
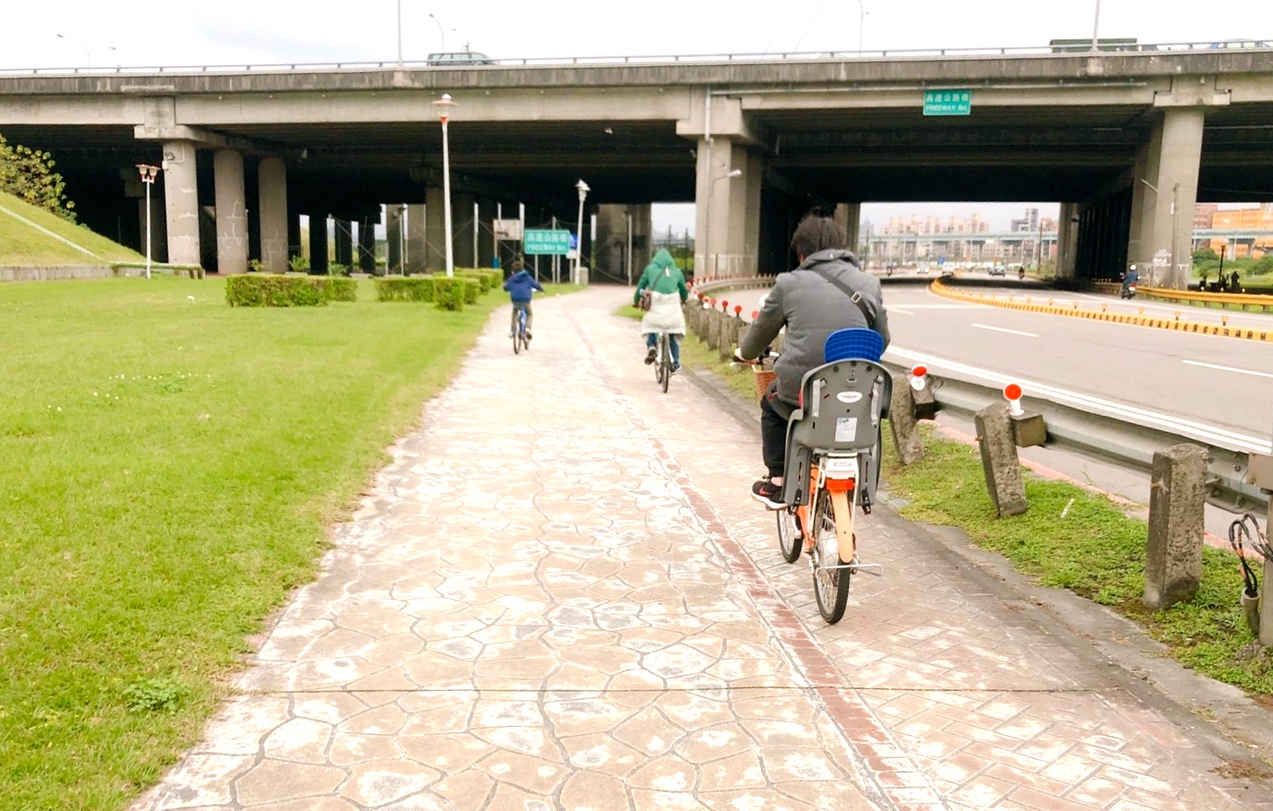
[[[924,115],[936,90],[967,115]],[[788,266],[813,205],[855,236],[862,202],[1053,200],[1062,274],[1113,278],[1188,256],[1195,200],[1273,200],[1273,48],[6,71],[0,132],[53,152],[83,219],[132,244],[132,167],[163,162],[172,261],[281,269],[299,214],[407,202],[412,264],[437,266],[443,93],[457,211],[573,223],[580,177],[638,219],[695,201],[715,274]],[[482,260],[466,233],[457,262]]]

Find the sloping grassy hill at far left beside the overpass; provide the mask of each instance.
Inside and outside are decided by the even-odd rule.
[[[19,216],[29,223],[18,219]],[[45,233],[41,228],[52,232],[61,239]],[[89,251],[93,256],[75,250],[62,239]],[[0,267],[15,265],[108,265],[111,262],[137,261],[144,262],[145,257],[83,225],[67,223],[62,218],[23,202],[13,195],[0,192]]]

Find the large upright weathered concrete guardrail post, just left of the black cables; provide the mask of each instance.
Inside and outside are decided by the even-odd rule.
[[[1151,609],[1170,609],[1198,593],[1206,485],[1206,448],[1181,443],[1153,455],[1143,598]]]

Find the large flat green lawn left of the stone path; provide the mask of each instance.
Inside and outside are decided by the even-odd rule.
[[[121,808],[197,740],[507,300],[360,285],[290,309],[219,279],[0,285],[0,808]]]

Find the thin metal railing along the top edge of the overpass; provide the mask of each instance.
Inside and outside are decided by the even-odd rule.
[[[960,47],[960,48],[889,48],[880,51],[807,51],[793,53],[666,53],[648,56],[537,56],[523,59],[491,59],[488,65],[430,64],[428,60],[398,62],[381,61],[330,61],[330,62],[237,62],[229,65],[151,65],[113,67],[0,67],[0,76],[42,75],[188,75],[236,73],[358,73],[396,70],[493,70],[500,67],[605,67],[608,65],[713,65],[737,62],[811,62],[845,60],[933,60],[933,59],[984,59],[999,56],[1152,56],[1162,52],[1232,52],[1234,50],[1273,51],[1273,39],[1251,39],[1253,47],[1235,48],[1222,42],[1165,42],[1102,47],[1100,51],[1073,51],[1053,46],[1011,47]]]

